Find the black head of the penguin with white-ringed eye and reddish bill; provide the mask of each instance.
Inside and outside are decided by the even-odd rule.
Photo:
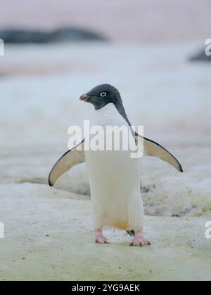
[[[94,89],[83,94],[80,100],[91,103],[94,105],[95,110],[100,110],[102,107],[108,105],[108,103],[113,103],[114,105],[122,103],[119,91],[109,84],[101,84],[94,87]]]

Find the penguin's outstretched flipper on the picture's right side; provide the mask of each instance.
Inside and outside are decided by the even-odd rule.
[[[176,168],[179,172],[183,172],[179,161],[168,150],[166,150],[165,147],[162,147],[162,145],[155,143],[155,141],[151,139],[139,136],[138,133],[135,133],[135,139],[136,143],[139,143],[140,140],[140,143],[143,146],[142,150],[144,155],[158,157],[162,159],[162,161],[174,166],[174,168]]]

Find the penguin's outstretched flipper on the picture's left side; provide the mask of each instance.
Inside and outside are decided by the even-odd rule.
[[[73,166],[85,162],[85,155],[83,149],[84,140],[79,145],[76,145],[68,152],[58,159],[56,164],[49,173],[49,185],[52,186],[56,183],[60,176],[69,171]]]

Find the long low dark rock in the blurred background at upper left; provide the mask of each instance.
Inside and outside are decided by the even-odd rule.
[[[87,29],[60,28],[51,32],[25,29],[5,29],[0,31],[0,39],[7,44],[46,44],[64,41],[107,41],[101,34]]]

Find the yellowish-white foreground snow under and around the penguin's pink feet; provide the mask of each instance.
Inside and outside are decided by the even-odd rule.
[[[146,217],[152,247],[106,230],[94,244],[91,203],[46,185],[0,185],[1,280],[211,280],[206,218]]]

